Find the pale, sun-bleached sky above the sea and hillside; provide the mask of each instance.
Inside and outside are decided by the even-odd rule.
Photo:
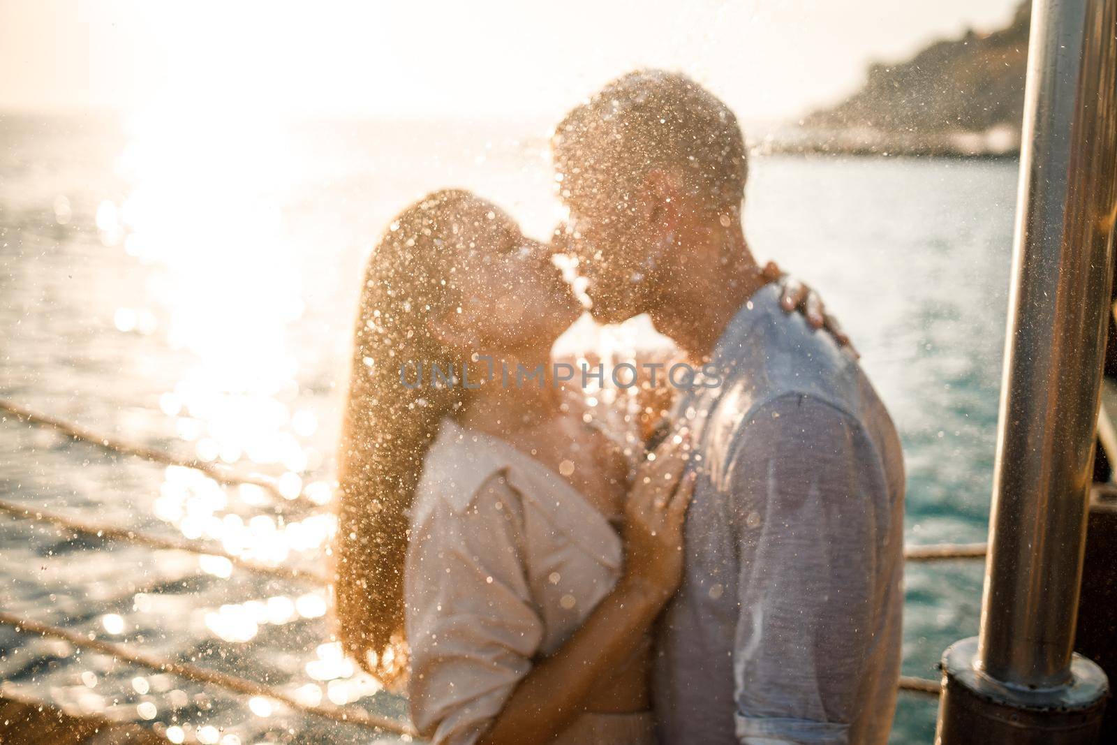
[[[152,105],[293,117],[557,117],[640,66],[745,121],[841,99],[1016,0],[155,2],[0,0],[0,111]]]

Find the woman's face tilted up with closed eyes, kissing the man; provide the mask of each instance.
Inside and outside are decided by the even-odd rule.
[[[455,325],[478,354],[550,352],[582,312],[550,249],[483,200],[461,206],[447,242],[457,251]]]

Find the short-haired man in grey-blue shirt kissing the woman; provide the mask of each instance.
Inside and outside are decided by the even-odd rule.
[[[552,144],[595,317],[648,313],[719,371],[675,407],[698,484],[657,640],[661,742],[884,743],[899,439],[851,351],[783,313],[753,258],[735,116],[685,76],[640,70],[572,111]]]

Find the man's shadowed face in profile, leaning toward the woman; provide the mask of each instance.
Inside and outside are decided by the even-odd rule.
[[[620,323],[646,313],[656,289],[663,240],[643,219],[637,200],[617,207],[575,198],[566,204],[570,222],[564,248],[577,257],[577,271],[589,283],[591,315],[599,323]]]

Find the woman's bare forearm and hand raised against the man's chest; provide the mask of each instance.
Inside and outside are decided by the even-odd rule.
[[[626,567],[613,591],[554,655],[535,665],[481,737],[484,745],[546,743],[586,709],[604,677],[637,651],[682,572],[682,520],[694,477],[682,438],[669,439],[637,475],[626,505]]]

